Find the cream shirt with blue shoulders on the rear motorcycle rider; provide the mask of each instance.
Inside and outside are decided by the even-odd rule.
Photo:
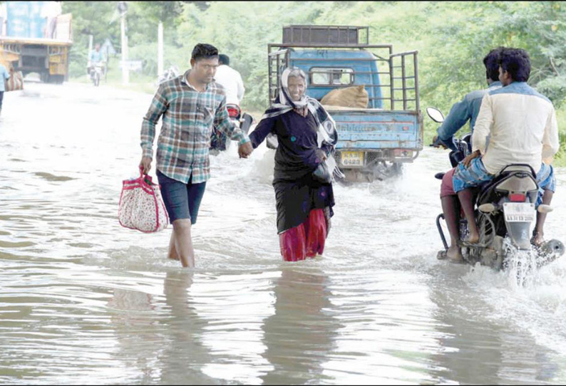
[[[490,174],[517,163],[538,172],[542,158],[560,147],[555,108],[525,82],[491,91],[483,97],[472,143]]]

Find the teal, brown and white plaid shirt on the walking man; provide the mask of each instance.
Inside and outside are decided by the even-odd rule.
[[[163,115],[157,169],[185,184],[192,174],[192,183],[198,184],[210,178],[208,153],[213,126],[240,145],[249,138],[230,121],[224,88],[212,82],[200,93],[188,83],[189,73],[159,86],[143,118],[141,147],[144,157],[153,158],[155,125]]]

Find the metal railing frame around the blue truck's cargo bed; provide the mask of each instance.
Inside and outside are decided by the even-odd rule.
[[[282,68],[289,66],[290,53],[294,48],[320,48],[320,49],[349,49],[359,48],[360,50],[369,51],[374,58],[332,58],[333,62],[372,62],[377,63],[378,71],[353,71],[352,75],[378,75],[380,80],[386,80],[385,83],[364,84],[366,88],[379,88],[381,96],[377,93],[370,93],[370,105],[374,105],[371,101],[381,100],[384,110],[396,110],[402,105],[402,110],[420,110],[419,90],[418,90],[418,51],[408,51],[402,53],[393,53],[391,44],[327,44],[320,43],[271,43],[268,44],[268,75],[269,75],[269,103],[273,103],[277,97],[279,90],[280,71]],[[381,50],[383,53],[376,51]],[[324,62],[329,61],[328,58],[293,58],[294,62]],[[385,67],[385,69],[384,69]],[[311,75],[311,74],[309,74]],[[373,76],[372,76],[373,77]],[[359,83],[356,83],[359,85]],[[346,88],[351,84],[331,85],[332,88]],[[309,85],[309,88],[328,88],[329,85]]]

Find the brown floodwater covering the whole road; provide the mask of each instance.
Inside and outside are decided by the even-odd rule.
[[[524,288],[437,261],[440,150],[401,179],[336,186],[324,256],[287,263],[273,152],[232,147],[212,157],[196,268],[166,259],[172,227],[117,219],[151,97],[37,83],[4,96],[0,383],[566,383],[566,259]],[[557,173],[547,237],[566,241]]]

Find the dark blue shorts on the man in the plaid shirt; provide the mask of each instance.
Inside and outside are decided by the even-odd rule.
[[[197,222],[198,209],[202,196],[205,194],[206,182],[192,184],[192,175],[187,184],[169,178],[159,170],[157,171],[161,196],[165,209],[169,214],[169,221],[190,219],[191,224]]]

